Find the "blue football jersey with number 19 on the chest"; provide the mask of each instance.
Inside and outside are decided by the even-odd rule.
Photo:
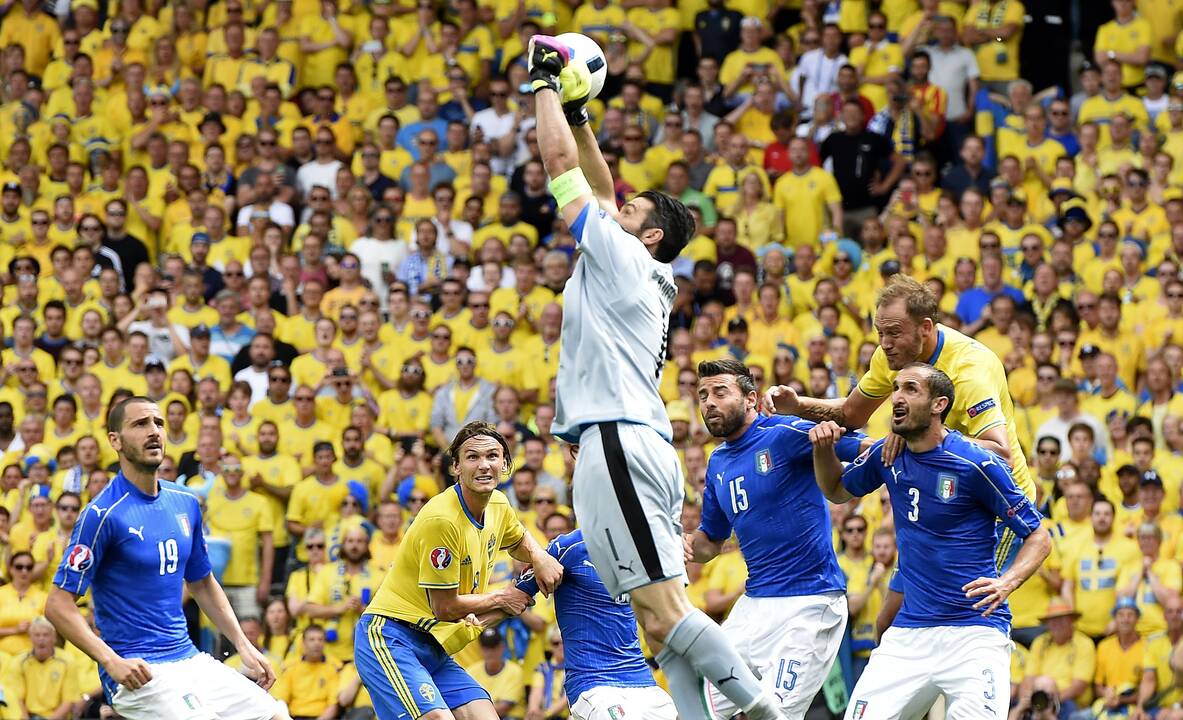
[[[53,584],[92,591],[98,631],[121,657],[164,662],[198,651],[181,589],[209,570],[198,499],[166,481],[146,495],[121,472],[83,508]],[[99,676],[112,692],[102,668]]]

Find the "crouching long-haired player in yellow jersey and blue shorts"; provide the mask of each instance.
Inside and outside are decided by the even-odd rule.
[[[486,592],[499,550],[534,565],[550,595],[563,569],[525,532],[497,485],[509,475],[509,446],[493,426],[466,424],[448,448],[455,486],[415,517],[394,565],[357,623],[357,672],[379,718],[498,720],[480,685],[451,655],[476,640],[476,616],[525,610],[510,585]]]

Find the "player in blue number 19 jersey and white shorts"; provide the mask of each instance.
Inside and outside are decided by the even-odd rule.
[[[198,499],[156,479],[164,458],[160,408],[128,398],[111,409],[106,429],[119,472],[82,511],[45,615],[98,663],[103,694],[127,720],[286,719],[266,693],[274,670],[211,572]],[[193,646],[181,610],[186,584],[254,682]],[[76,604],[88,589],[102,637]]]

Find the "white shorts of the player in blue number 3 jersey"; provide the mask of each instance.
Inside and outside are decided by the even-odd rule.
[[[911,719],[944,695],[945,716],[1001,720],[1010,638],[983,625],[888,628],[851,694],[846,720]]]

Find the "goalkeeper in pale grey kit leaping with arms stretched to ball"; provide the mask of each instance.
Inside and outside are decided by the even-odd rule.
[[[778,718],[771,694],[684,586],[681,466],[658,378],[678,292],[670,262],[693,219],[652,192],[616,209],[583,106],[590,74],[570,54],[535,35],[528,57],[538,149],[580,249],[563,293],[554,432],[582,448],[574,494],[588,554],[613,597],[629,595],[683,720],[706,718],[700,676],[751,720]]]

